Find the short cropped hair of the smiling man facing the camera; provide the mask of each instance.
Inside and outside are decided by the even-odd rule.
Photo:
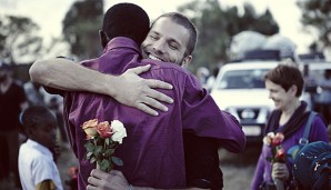
[[[174,21],[175,23],[184,27],[187,30],[189,30],[190,32],[190,38],[189,38],[189,43],[187,44],[187,52],[185,52],[185,56],[190,56],[192,54],[192,52],[194,51],[195,49],[195,44],[197,44],[197,41],[198,41],[198,30],[197,30],[197,27],[190,21],[189,18],[187,18],[185,16],[179,13],[179,12],[168,12],[168,13],[164,13],[160,17],[158,17],[151,27],[153,27],[153,24],[161,18],[169,18],[171,19],[172,21]]]

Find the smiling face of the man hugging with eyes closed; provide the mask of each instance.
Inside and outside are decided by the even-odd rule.
[[[191,56],[187,56],[189,30],[175,23],[170,18],[160,18],[152,26],[141,44],[142,56],[180,66],[188,66]]]

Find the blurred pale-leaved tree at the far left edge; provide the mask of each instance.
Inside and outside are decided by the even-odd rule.
[[[41,53],[42,39],[36,33],[39,26],[30,18],[0,17],[0,57],[10,64],[30,63]]]

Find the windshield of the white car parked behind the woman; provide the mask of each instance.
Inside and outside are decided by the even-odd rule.
[[[264,89],[263,77],[268,69],[227,71],[221,79],[220,89]]]

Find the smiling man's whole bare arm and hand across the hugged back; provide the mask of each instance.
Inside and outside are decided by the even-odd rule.
[[[34,62],[29,73],[33,82],[47,87],[110,96],[120,103],[158,116],[159,113],[154,109],[168,110],[160,101],[172,103],[173,100],[154,88],[172,89],[172,86],[163,81],[139,77],[140,73],[149,69],[150,66],[137,67],[117,77],[87,69],[68,59],[57,58]]]

